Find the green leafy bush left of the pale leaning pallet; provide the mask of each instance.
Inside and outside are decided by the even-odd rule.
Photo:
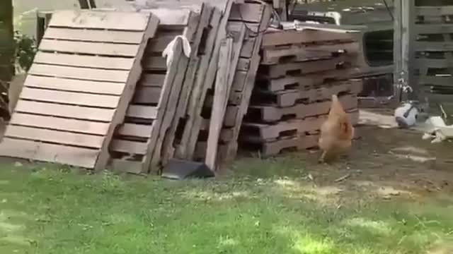
[[[36,40],[16,31],[14,41],[16,42],[16,70],[18,72],[28,71],[37,52]]]

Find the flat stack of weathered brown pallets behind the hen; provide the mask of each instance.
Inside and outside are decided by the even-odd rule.
[[[239,142],[263,155],[316,147],[319,128],[338,95],[352,123],[358,121],[360,50],[344,31],[275,30],[263,38],[260,68]]]

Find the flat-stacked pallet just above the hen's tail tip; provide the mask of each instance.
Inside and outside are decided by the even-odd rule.
[[[311,87],[308,90],[285,90],[282,92],[255,90],[251,98],[251,104],[275,104],[277,107],[292,107],[299,103],[330,99],[332,95],[340,93],[358,94],[360,91],[362,91],[362,80],[360,79],[336,81],[320,87]]]

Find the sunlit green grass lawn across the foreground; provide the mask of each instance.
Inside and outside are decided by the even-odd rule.
[[[302,172],[291,159],[237,167],[278,164]],[[399,254],[449,246],[448,200],[341,200],[302,178],[176,182],[4,166],[0,253]]]

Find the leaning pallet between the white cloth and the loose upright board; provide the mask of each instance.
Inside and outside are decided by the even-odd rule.
[[[236,0],[241,1],[241,0]],[[200,54],[196,58],[191,58],[189,68],[185,75],[183,90],[180,93],[176,114],[173,118],[171,128],[165,134],[164,145],[161,150],[161,163],[165,164],[172,157],[185,157],[185,147],[187,147],[190,129],[195,121],[197,104],[201,97],[205,96],[208,83],[213,83],[215,75],[212,70],[216,66],[212,64],[217,61],[219,42],[217,38],[222,37],[222,30],[226,23],[221,23],[224,13],[229,13],[233,0],[213,0],[210,5],[215,8],[212,10],[209,25],[202,29],[202,42],[200,42]],[[195,13],[204,13],[201,6],[206,6],[203,0],[178,0],[178,1],[159,1],[149,0],[147,6],[151,8],[166,7],[187,8]],[[223,32],[224,34],[224,32]],[[214,73],[215,74],[215,73]],[[192,81],[193,80],[193,81]],[[210,82],[209,82],[210,80]],[[192,82],[191,82],[192,81]],[[182,129],[183,131],[178,131]],[[158,163],[154,160],[153,164]]]

